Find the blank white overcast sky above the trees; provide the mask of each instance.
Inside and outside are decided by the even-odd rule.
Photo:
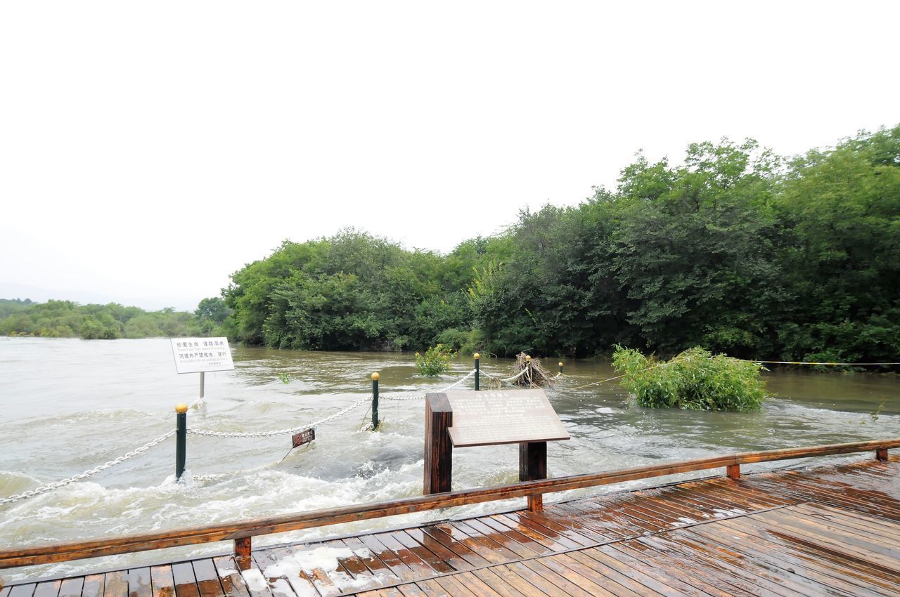
[[[4,2],[0,298],[193,309],[284,238],[446,252],[614,187],[641,147],[833,145],[900,122],[897,22],[859,1]]]

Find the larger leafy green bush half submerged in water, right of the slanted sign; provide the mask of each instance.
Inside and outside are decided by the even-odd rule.
[[[656,361],[653,356],[617,346],[613,367],[625,373],[622,385],[642,406],[755,411],[767,397],[759,363],[724,354],[713,356],[698,347],[671,361]]]

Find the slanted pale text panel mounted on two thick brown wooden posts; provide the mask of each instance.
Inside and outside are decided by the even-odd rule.
[[[571,439],[544,390],[447,392],[446,398],[455,448]]]

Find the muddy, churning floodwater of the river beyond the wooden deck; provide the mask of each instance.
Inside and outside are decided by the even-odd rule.
[[[440,379],[416,375],[409,354],[233,349],[236,370],[207,373],[206,397],[188,426],[215,431],[284,429],[328,416],[370,393],[418,394],[445,388],[470,359]],[[175,427],[175,404],[194,403],[199,374],[176,375],[167,340],[81,341],[0,338],[0,498],[72,477],[115,459]],[[555,360],[550,359],[555,365]],[[509,375],[511,361],[482,359]],[[548,396],[571,441],[548,449],[552,477],[745,450],[900,437],[900,379],[783,370],[766,374],[776,394],[761,413],[706,413],[629,405],[606,361],[568,361]],[[289,379],[285,384],[280,377]],[[595,385],[589,385],[595,384]],[[471,388],[467,383],[464,388]],[[423,401],[381,402],[383,428],[359,431],[366,406],[316,430],[309,446],[289,452],[290,436],[188,438],[187,477],[175,484],[175,440],[102,473],[17,503],[0,505],[0,547],[93,539],[187,525],[237,521],[330,506],[374,502],[422,489]],[[859,458],[859,456],[855,457]],[[792,463],[796,466],[796,462]],[[785,466],[783,463],[756,468]],[[748,467],[752,470],[754,467]],[[700,474],[696,474],[700,475]],[[518,479],[518,448],[455,450],[455,488]],[[649,484],[661,482],[651,479]],[[612,491],[621,486],[591,489]],[[586,490],[588,491],[588,490]],[[572,494],[569,494],[572,495]],[[568,495],[552,494],[554,501]],[[316,537],[518,505],[483,503],[452,512],[365,521],[276,535],[268,542]],[[258,539],[265,543],[264,538]],[[106,558],[27,570],[47,576],[76,569],[130,566],[223,545]],[[23,571],[5,571],[8,579]]]

